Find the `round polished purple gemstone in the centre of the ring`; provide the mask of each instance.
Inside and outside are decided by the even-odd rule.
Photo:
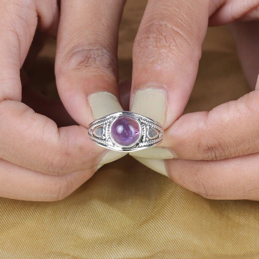
[[[122,146],[132,145],[138,140],[140,128],[138,122],[129,116],[118,117],[112,124],[111,135]]]

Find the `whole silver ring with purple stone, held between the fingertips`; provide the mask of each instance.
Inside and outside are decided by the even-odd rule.
[[[89,138],[107,149],[132,152],[162,142],[160,123],[129,111],[109,114],[89,124]]]

